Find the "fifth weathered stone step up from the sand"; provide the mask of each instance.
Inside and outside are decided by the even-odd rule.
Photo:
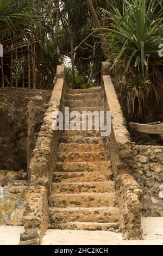
[[[54,182],[86,182],[86,181],[108,181],[111,179],[110,172],[55,172],[53,174]]]

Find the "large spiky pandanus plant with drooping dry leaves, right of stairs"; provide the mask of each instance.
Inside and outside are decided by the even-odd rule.
[[[130,117],[142,117],[148,103],[159,102],[163,85],[161,1],[123,0],[121,11],[111,5],[106,11],[110,26],[105,37],[110,47],[112,72],[117,90],[127,101]],[[157,12],[155,10],[158,10]]]

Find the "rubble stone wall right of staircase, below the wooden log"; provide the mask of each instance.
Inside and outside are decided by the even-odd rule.
[[[133,153],[134,176],[143,191],[143,216],[163,216],[163,147],[134,145]]]

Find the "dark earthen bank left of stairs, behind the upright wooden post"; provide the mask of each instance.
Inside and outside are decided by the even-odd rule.
[[[0,89],[0,170],[27,170],[29,102],[35,102],[36,143],[51,94],[50,90]]]

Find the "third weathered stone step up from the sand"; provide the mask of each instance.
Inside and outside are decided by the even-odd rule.
[[[55,207],[114,207],[115,192],[111,193],[80,193],[80,194],[52,194],[52,204]]]

